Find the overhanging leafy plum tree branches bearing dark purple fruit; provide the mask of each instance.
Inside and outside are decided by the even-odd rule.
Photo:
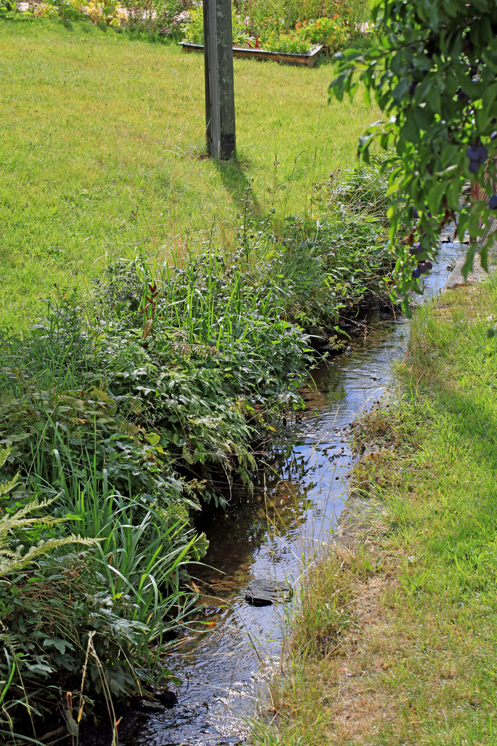
[[[373,0],[379,45],[337,54],[330,86],[341,100],[359,87],[383,113],[359,140],[370,160],[376,142],[387,151],[392,196],[389,242],[396,252],[396,289],[408,313],[408,293],[421,292],[418,278],[437,257],[438,236],[455,221],[462,240],[484,236],[497,216],[497,22],[496,0]],[[487,198],[463,196],[466,181]],[[492,238],[473,244],[487,269]]]

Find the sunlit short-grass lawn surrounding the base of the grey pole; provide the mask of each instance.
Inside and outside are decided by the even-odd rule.
[[[90,24],[0,21],[0,328],[136,247],[229,250],[245,187],[275,221],[326,210],[375,119],[328,103],[332,66],[235,60],[238,162],[204,157],[203,56]]]

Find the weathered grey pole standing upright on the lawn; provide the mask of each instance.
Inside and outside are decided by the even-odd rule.
[[[235,86],[231,0],[203,0],[206,137],[212,157],[235,155]]]

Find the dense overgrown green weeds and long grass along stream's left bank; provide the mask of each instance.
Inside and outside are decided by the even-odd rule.
[[[15,660],[13,668],[0,659],[7,732],[79,731],[58,689],[92,721],[106,717],[110,692],[134,702],[142,686],[174,680],[169,651],[196,613],[189,566],[208,545],[191,515],[209,502],[226,507],[236,484],[250,493],[256,458],[302,406],[311,349],[295,322],[318,316],[326,327],[377,286],[372,267],[379,273],[387,261],[381,225],[342,210],[314,225],[313,240],[302,241],[303,225],[292,221],[277,250],[262,231],[241,235],[229,257],[209,249],[184,267],[137,254],[85,294],[57,291],[29,333],[1,340],[1,477],[17,527],[4,546],[20,548],[25,509],[42,513],[37,524],[46,515],[48,529],[22,539],[33,551],[40,537],[53,542],[36,569],[23,571],[32,555],[4,567],[2,621]],[[268,256],[257,253],[258,236]],[[344,237],[355,240],[347,262]],[[67,542],[85,542],[89,554],[59,553]],[[18,595],[28,626],[17,624]],[[23,702],[42,713],[35,722],[23,718]]]

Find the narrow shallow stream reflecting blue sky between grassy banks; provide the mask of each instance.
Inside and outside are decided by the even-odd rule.
[[[450,274],[446,267],[461,253],[460,245],[442,245],[425,297],[439,292]],[[185,644],[169,656],[168,667],[182,682],[177,705],[148,715],[121,743],[225,746],[247,739],[261,683],[281,659],[282,619],[291,612],[291,604],[250,606],[247,583],[256,577],[305,583],[302,558],[332,538],[346,499],[349,424],[384,392],[392,364],[405,353],[407,332],[402,318],[370,316],[366,335],[352,337],[351,354],[312,372],[302,389],[306,410],[276,444],[276,467],[265,470],[265,485],[252,497],[233,495],[227,513],[211,513],[198,524],[210,542],[211,568],[200,568],[196,580],[207,604],[206,632],[185,630]]]

